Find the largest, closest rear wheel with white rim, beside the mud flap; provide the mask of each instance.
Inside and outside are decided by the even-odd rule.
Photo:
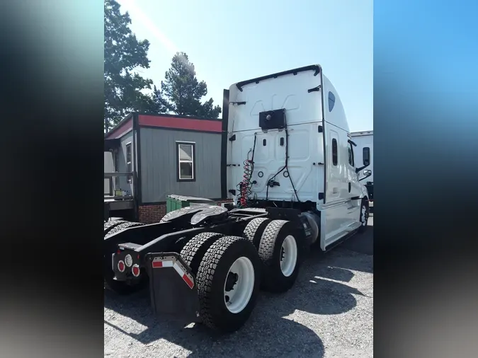
[[[256,306],[261,283],[261,260],[246,238],[224,236],[207,250],[200,263],[200,318],[209,328],[234,332]]]

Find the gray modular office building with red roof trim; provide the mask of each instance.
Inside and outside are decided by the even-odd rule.
[[[115,174],[121,173],[105,175],[105,188],[111,188],[106,216],[158,222],[166,195],[175,193],[219,201],[221,142],[221,119],[131,113],[105,136],[105,152],[113,156]]]

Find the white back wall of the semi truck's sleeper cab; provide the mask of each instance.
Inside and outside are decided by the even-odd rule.
[[[323,191],[324,187],[320,86],[321,76],[310,68],[247,83],[242,91],[237,85],[229,88],[228,190],[239,190],[244,172],[251,169],[244,169],[244,161],[254,154],[250,180],[256,183],[251,195],[290,201],[297,200],[295,192],[300,191],[300,201],[317,202],[318,188]],[[264,131],[259,123],[261,113],[280,109],[285,110],[287,130]],[[288,168],[284,168],[286,151]],[[271,178],[278,185],[268,187]]]

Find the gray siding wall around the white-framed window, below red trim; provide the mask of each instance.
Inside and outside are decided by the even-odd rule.
[[[140,130],[142,202],[164,202],[170,194],[221,197],[221,134]],[[195,181],[177,181],[176,142],[195,142]]]

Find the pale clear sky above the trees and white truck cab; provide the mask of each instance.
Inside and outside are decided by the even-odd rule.
[[[318,63],[351,131],[373,129],[373,1],[118,2],[137,37],[151,42],[151,68],[142,74],[154,83],[176,51],[186,52],[207,98],[222,106],[222,90],[232,83]]]

